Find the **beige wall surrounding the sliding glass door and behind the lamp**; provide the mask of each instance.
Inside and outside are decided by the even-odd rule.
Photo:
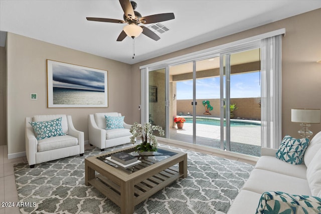
[[[318,9],[134,64],[131,67],[135,77],[133,84],[140,85],[139,66],[285,28],[286,35],[282,39],[282,135],[298,137],[299,124],[291,122],[291,108],[321,108],[321,64],[315,63],[321,59],[320,20],[321,9]],[[133,91],[140,94],[140,88],[133,88]],[[134,100],[134,105],[139,103],[139,99]],[[140,120],[139,115],[138,110],[133,109],[133,119]],[[321,124],[311,125],[311,130],[318,132]]]

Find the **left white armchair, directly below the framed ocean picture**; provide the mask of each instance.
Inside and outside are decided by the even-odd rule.
[[[62,132],[65,135],[37,139],[30,122],[61,119]],[[60,120],[60,119],[59,119]],[[26,117],[26,155],[30,168],[37,163],[56,160],[80,154],[84,155],[84,132],[75,129],[70,115],[37,115]],[[38,137],[40,138],[40,137]]]

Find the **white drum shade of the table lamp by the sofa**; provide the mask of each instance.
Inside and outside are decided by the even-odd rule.
[[[291,109],[291,121],[298,123],[320,123],[320,109]]]

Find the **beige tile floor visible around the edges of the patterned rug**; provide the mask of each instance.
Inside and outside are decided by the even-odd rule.
[[[184,149],[194,150],[197,152],[202,152],[210,155],[215,156],[221,156],[226,157],[233,160],[239,160],[243,162],[247,162],[250,164],[255,164],[255,159],[253,160],[247,160],[240,157],[230,156],[230,155],[224,155],[224,154],[218,154],[215,152],[215,150],[211,150],[208,148],[197,147],[189,145],[179,145],[176,143],[169,143],[169,142],[159,142],[161,144],[167,144],[171,146],[177,146]],[[85,145],[86,146],[89,145]],[[14,175],[14,167],[13,165],[16,163],[26,162],[26,157],[19,157],[14,159],[8,159],[8,152],[7,152],[7,146],[0,146],[0,214],[19,214],[19,208],[18,207],[6,207],[3,206],[4,202],[18,202],[18,193],[16,188],[16,181],[15,181],[15,175]],[[28,201],[20,201],[20,202],[28,202]]]

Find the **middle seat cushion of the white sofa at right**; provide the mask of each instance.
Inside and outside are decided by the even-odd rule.
[[[306,179],[256,168],[252,170],[242,189],[259,194],[266,191],[282,191],[290,194],[311,195]]]

